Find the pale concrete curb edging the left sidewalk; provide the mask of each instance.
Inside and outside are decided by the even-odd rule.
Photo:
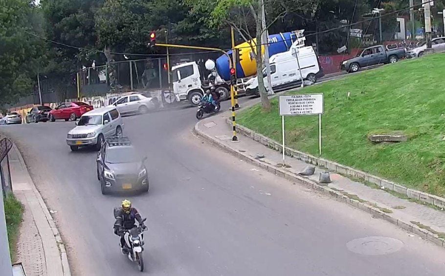
[[[17,152],[17,156],[19,157],[20,162],[25,165],[26,163],[23,160],[22,153],[19,151],[19,148],[17,147],[17,145],[15,143],[13,144],[13,147]],[[60,260],[62,263],[63,276],[71,276],[71,270],[69,268],[67,250],[66,250],[65,245],[62,241],[59,230],[57,229],[56,223],[54,222],[53,218],[51,217],[48,207],[46,206],[45,201],[43,200],[40,192],[37,190],[36,185],[34,184],[32,179],[30,181],[30,184],[32,185],[32,190],[33,190],[34,194],[36,195],[37,200],[39,201],[39,204],[45,213],[46,221],[48,222],[49,227],[51,228],[52,233],[54,234],[56,243],[59,247],[59,255],[60,255]],[[48,260],[46,260],[46,261],[48,261]]]

